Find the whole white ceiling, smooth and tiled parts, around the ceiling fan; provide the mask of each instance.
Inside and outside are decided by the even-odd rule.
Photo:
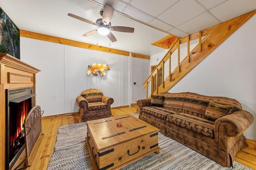
[[[114,43],[97,33],[84,37],[97,27],[68,16],[95,22],[105,4],[115,9],[111,24],[134,27],[134,33],[112,31]],[[154,55],[164,49],[151,43],[170,34],[185,37],[251,12],[256,0],[0,0],[0,7],[22,30]]]

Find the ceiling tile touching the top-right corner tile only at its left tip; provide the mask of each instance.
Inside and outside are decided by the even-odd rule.
[[[194,0],[180,0],[157,18],[176,27],[204,11],[204,8]]]

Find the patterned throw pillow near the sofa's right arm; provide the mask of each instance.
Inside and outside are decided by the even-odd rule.
[[[209,120],[216,121],[216,119],[231,113],[233,106],[221,105],[210,101],[209,106],[205,111],[205,115]]]

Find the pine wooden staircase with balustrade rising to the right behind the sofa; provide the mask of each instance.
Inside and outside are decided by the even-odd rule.
[[[146,98],[148,98],[148,90],[153,95],[168,92],[255,13],[256,10],[184,38],[175,39],[170,50],[143,84],[143,88],[146,88]],[[191,49],[190,45],[193,41],[198,43]],[[180,56],[184,52],[184,47],[186,47],[186,56]]]

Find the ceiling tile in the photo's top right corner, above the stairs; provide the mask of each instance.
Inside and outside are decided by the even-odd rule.
[[[250,4],[250,5],[248,5]],[[222,22],[236,18],[256,9],[256,0],[228,0],[210,12]]]

